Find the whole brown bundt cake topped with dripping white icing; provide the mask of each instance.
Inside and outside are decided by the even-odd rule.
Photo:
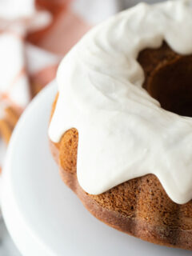
[[[91,214],[187,250],[191,42],[191,1],[142,3],[96,26],[59,66],[49,128],[62,180]]]

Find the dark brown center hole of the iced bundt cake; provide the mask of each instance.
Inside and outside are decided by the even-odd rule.
[[[192,55],[176,54],[164,42],[158,50],[142,51],[138,62],[146,76],[143,87],[162,108],[192,117]]]

